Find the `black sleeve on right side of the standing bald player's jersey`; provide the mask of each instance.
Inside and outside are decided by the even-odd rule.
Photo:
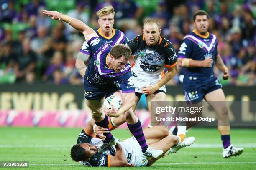
[[[177,62],[177,55],[172,43],[168,42],[165,47],[165,64],[168,66],[174,65]]]

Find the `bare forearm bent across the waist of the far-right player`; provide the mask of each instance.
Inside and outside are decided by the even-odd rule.
[[[179,67],[211,67],[212,58],[205,58],[205,60],[193,60],[191,58],[178,58]]]

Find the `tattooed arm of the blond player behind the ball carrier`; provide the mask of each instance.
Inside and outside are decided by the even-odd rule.
[[[85,70],[88,65],[89,57],[90,57],[89,55],[84,54],[82,52],[78,52],[77,54],[76,68],[79,71],[80,75],[82,75],[82,77],[84,77],[85,75]]]

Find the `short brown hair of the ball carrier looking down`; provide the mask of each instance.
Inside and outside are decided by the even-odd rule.
[[[123,56],[126,60],[129,60],[131,57],[131,49],[124,44],[117,44],[110,50],[110,54],[114,55],[115,59]]]

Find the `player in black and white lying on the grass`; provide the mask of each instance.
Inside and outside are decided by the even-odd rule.
[[[150,166],[159,158],[146,159],[140,149],[139,143],[133,137],[117,142],[118,144],[110,146],[103,152],[98,152],[97,145],[102,143],[102,139],[92,138],[94,133],[94,120],[90,120],[77,139],[77,145],[71,149],[71,157],[74,161],[82,161],[87,166]],[[103,133],[108,129],[96,127],[97,134],[104,139]],[[163,150],[166,153],[172,146],[177,145],[179,148],[191,145],[194,137],[186,138],[180,143],[181,138],[169,135],[169,130],[165,126],[155,126],[144,130],[145,138],[148,145],[155,149]]]

